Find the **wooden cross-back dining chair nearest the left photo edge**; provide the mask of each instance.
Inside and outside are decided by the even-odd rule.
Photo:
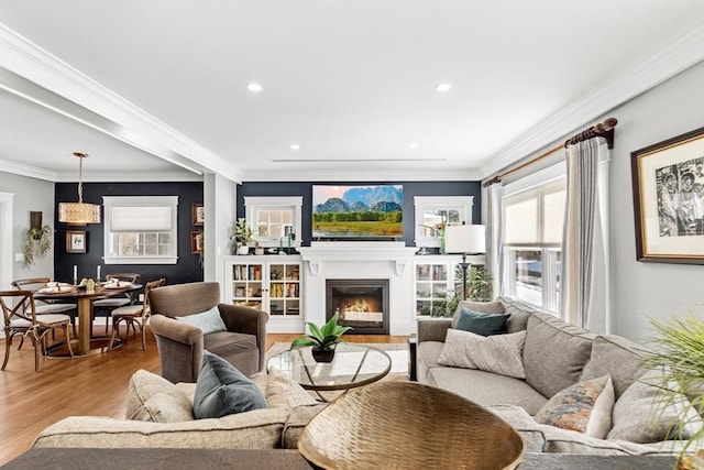
[[[34,346],[34,370],[41,371],[40,352],[46,353],[46,335],[57,329],[64,331],[66,348],[74,357],[70,347],[70,335],[68,326],[70,317],[64,314],[37,315],[34,293],[32,291],[2,291],[0,292],[0,305],[2,306],[2,318],[4,321],[4,361],[2,369],[8,365],[12,338],[22,335],[22,338],[30,337]]]

